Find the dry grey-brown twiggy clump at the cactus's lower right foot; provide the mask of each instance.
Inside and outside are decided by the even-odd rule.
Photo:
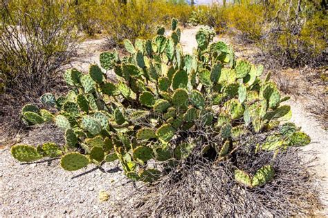
[[[237,152],[237,165],[258,168],[274,155],[259,152],[254,161],[248,159],[248,152],[246,147]],[[278,154],[273,165],[275,179],[253,189],[236,184],[233,175],[236,160],[212,163],[194,155],[158,184],[136,190],[129,204],[135,203],[133,209],[138,217],[313,215],[322,205],[313,174],[313,159],[303,161],[304,155],[313,154],[305,154],[298,148]]]

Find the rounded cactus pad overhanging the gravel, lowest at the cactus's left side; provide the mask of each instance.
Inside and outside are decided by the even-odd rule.
[[[78,152],[71,152],[62,157],[60,160],[60,166],[67,171],[80,170],[88,166],[89,159],[85,155],[81,155]]]

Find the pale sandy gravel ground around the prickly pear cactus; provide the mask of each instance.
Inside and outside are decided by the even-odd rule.
[[[191,53],[196,45],[194,36],[198,28],[183,30],[181,44],[184,52]],[[230,43],[228,38],[216,37]],[[87,69],[89,63],[98,63],[104,39],[93,39],[82,43],[79,52],[83,63],[74,63],[79,69]],[[246,52],[246,53],[245,53]],[[247,50],[238,51],[238,57],[247,57]],[[322,200],[328,196],[328,135],[320,127],[320,123],[305,110],[298,100],[288,102],[293,111],[293,121],[312,138],[312,143],[304,150],[318,152],[316,170],[322,177]],[[37,144],[44,141],[63,143],[62,134],[53,126],[33,128],[28,137],[17,136],[17,141]],[[102,170],[95,166],[77,172],[65,172],[58,165],[58,160],[46,161],[39,164],[19,164],[10,157],[8,146],[1,146],[6,139],[0,139],[0,217],[7,216],[105,216],[120,215],[118,201],[134,190],[117,163],[104,164]],[[101,202],[98,193],[105,190],[109,200]],[[328,206],[326,206],[328,208]],[[324,210],[322,215],[328,215]]]

